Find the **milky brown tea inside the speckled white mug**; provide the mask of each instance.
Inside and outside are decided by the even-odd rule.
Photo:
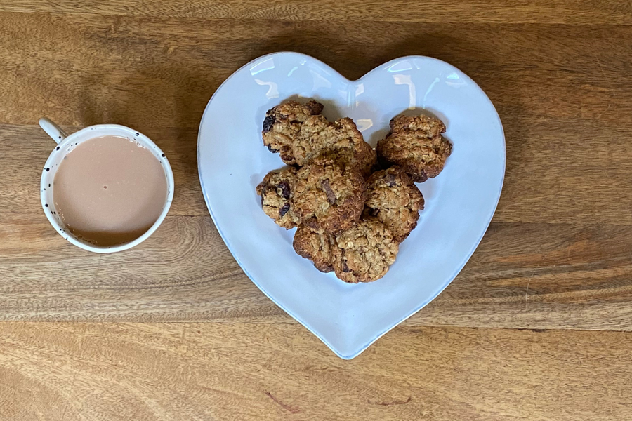
[[[79,143],[56,168],[53,202],[68,232],[98,247],[129,243],[160,217],[162,163],[136,140],[105,135]]]

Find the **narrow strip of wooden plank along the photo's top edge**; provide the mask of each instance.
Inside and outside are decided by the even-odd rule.
[[[158,16],[176,18],[232,18],[257,20],[325,20],[389,22],[493,22],[565,23],[580,25],[630,25],[632,8],[625,2],[606,0],[4,0],[0,11]]]

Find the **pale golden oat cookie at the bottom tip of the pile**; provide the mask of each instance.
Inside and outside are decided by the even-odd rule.
[[[388,272],[399,250],[393,234],[381,222],[361,220],[336,236],[336,276],[345,282],[372,282]]]

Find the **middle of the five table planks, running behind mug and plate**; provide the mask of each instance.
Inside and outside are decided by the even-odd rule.
[[[632,122],[629,129],[589,121],[504,124],[507,166],[495,222],[632,224]],[[131,126],[169,156],[176,182],[170,215],[208,215],[197,174],[197,130]],[[0,166],[7,169],[0,174],[0,215],[43,218],[39,178],[53,142],[39,126],[0,125],[0,139]],[[261,153],[268,153],[263,146]]]

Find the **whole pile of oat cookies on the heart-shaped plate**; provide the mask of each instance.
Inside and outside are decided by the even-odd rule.
[[[298,227],[294,250],[317,269],[375,281],[419,220],[414,182],[438,175],[452,145],[440,120],[397,116],[376,154],[351,119],[327,121],[322,109],[290,101],[268,111],[263,144],[288,167],[265,175],[257,194],[277,225]]]

